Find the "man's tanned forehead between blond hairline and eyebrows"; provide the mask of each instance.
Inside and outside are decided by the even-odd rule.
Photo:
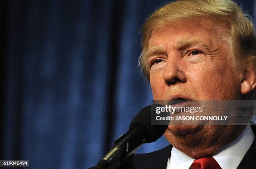
[[[190,40],[208,46],[223,44],[224,27],[205,17],[192,17],[166,23],[151,33],[148,48],[175,47]]]

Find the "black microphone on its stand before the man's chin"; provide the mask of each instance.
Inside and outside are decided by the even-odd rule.
[[[168,125],[152,126],[151,111],[156,112],[161,104],[152,104],[141,109],[134,117],[127,133],[115,140],[112,149],[95,166],[96,169],[106,169],[118,159],[128,159],[143,143],[155,142],[166,131]]]

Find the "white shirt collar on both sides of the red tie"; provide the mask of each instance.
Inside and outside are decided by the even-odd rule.
[[[253,140],[254,135],[251,126],[248,124],[236,140],[223,147],[213,158],[222,169],[236,169],[251,147]],[[168,159],[166,169],[189,169],[194,161],[195,159],[172,147],[171,157]]]

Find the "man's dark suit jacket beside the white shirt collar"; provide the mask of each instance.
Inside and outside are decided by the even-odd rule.
[[[255,127],[251,126],[254,135],[256,134]],[[172,145],[169,145],[156,152],[134,155],[134,169],[166,169],[171,150]],[[254,139],[253,144],[248,149],[237,169],[256,169],[256,139]]]

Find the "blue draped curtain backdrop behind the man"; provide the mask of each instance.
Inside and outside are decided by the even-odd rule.
[[[1,1],[1,160],[94,166],[151,102],[139,32],[166,2]],[[253,0],[241,4],[253,14]],[[162,137],[137,153],[166,145]]]

